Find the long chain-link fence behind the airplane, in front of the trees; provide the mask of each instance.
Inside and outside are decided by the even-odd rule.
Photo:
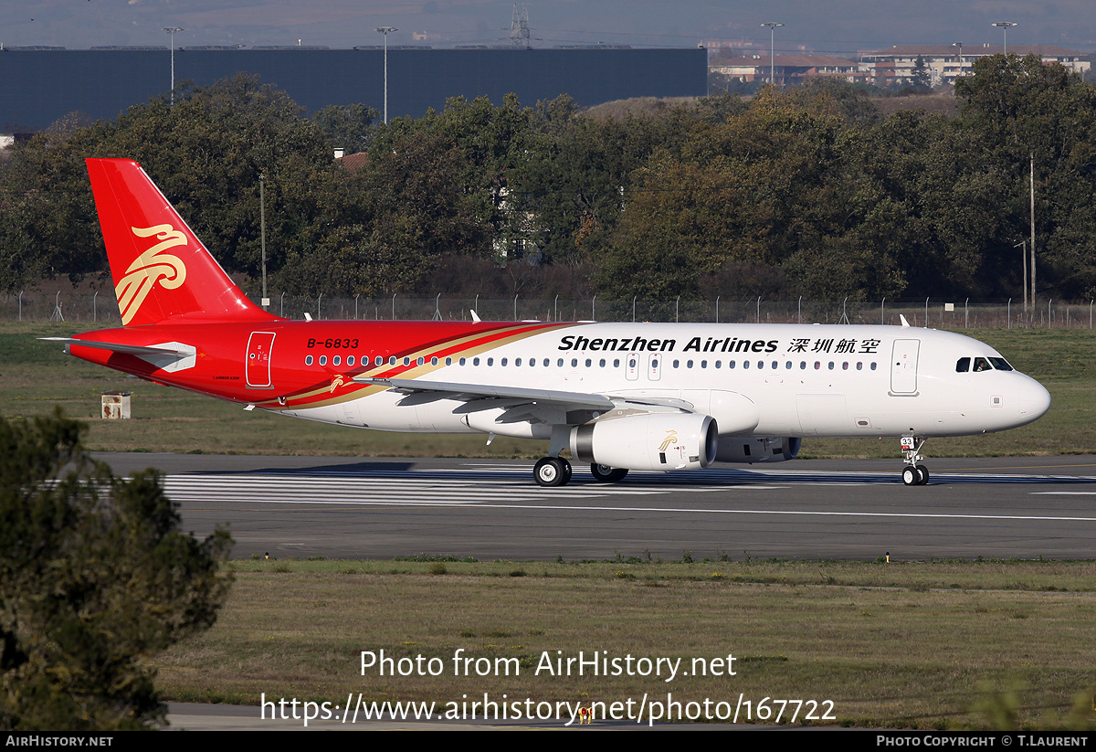
[[[258,304],[259,301],[255,300]],[[269,310],[290,319],[362,321],[468,321],[475,310],[484,321],[706,321],[760,323],[899,323],[936,329],[1092,329],[1094,301],[1040,300],[589,300],[563,298],[487,298],[393,295],[296,297],[274,294]],[[117,324],[118,307],[105,293],[44,294],[32,290],[0,296],[0,320],[81,321]]]

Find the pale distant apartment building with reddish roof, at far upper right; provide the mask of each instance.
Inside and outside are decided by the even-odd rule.
[[[925,61],[932,86],[954,84],[961,76],[970,76],[977,60],[1000,55],[1001,46],[982,45],[905,45],[889,49],[861,52],[860,70],[869,83],[880,87],[903,86],[913,81],[917,58]],[[1047,45],[1009,45],[1011,55],[1040,55],[1043,62],[1061,62],[1068,70],[1084,78],[1089,68],[1075,49]],[[777,58],[779,59],[779,57]]]

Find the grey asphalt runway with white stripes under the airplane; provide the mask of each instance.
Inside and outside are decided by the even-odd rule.
[[[893,460],[631,472],[532,462],[104,454],[167,475],[183,527],[228,524],[233,556],[489,559],[1081,559],[1096,556],[1096,457],[937,459],[905,487]]]

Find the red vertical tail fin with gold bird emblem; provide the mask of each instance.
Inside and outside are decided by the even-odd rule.
[[[140,164],[87,161],[123,326],[277,318],[243,295]]]

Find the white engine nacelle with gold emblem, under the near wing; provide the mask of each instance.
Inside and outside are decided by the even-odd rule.
[[[629,470],[695,470],[716,458],[716,420],[694,412],[606,418],[571,429],[571,456]]]

